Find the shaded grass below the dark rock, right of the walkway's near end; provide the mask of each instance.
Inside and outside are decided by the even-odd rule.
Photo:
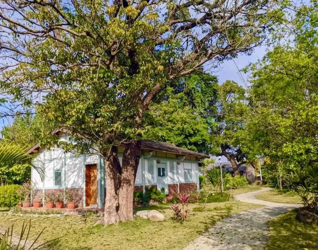
[[[295,216],[295,211],[289,211],[271,220],[266,250],[318,249],[318,226],[305,225]]]

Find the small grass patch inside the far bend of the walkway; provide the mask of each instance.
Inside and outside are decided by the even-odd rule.
[[[256,195],[256,198],[272,202],[301,204],[301,198],[297,195],[297,193],[289,191],[288,189],[270,190]]]

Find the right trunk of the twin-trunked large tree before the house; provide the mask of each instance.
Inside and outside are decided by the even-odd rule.
[[[119,219],[122,222],[134,219],[134,189],[137,169],[141,155],[140,141],[125,144],[121,187],[119,190]]]

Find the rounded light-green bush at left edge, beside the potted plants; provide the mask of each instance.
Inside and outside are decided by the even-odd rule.
[[[20,202],[18,194],[19,185],[6,185],[0,187],[0,207],[14,207]]]

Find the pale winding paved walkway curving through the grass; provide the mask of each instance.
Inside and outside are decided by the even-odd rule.
[[[261,204],[266,207],[237,213],[218,221],[197,239],[191,241],[183,250],[263,250],[269,241],[268,222],[288,209],[299,204],[283,204],[263,201],[256,194],[269,191],[263,188],[256,192],[235,195],[235,200]]]

